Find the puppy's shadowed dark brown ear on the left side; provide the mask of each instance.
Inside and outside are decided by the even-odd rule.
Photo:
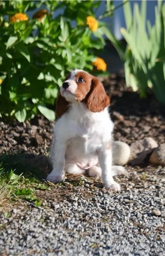
[[[61,117],[65,112],[67,112],[68,108],[69,103],[64,97],[62,97],[61,93],[59,93],[56,100],[56,117]]]

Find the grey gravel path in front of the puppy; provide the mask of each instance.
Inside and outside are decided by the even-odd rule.
[[[0,255],[165,256],[164,175],[162,168],[117,177],[117,193],[84,178],[66,196],[62,188],[61,199],[47,198],[45,207],[1,212]]]

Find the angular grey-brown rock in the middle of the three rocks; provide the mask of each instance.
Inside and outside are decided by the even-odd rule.
[[[154,148],[158,147],[158,143],[151,137],[145,137],[143,140],[137,140],[130,146],[131,148],[131,164],[137,165],[143,163]]]

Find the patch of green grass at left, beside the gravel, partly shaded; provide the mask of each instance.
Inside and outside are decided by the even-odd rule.
[[[34,159],[35,162],[35,159]],[[41,177],[44,173],[24,155],[2,155],[0,157],[0,206],[18,200],[42,205],[36,190],[49,190]]]

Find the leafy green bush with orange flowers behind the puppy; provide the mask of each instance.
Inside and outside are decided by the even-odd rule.
[[[106,70],[106,63],[97,59],[98,51],[105,45],[104,35],[122,54],[119,42],[106,24],[98,20],[113,14],[113,1],[105,2],[106,11],[96,19],[100,3],[94,0],[1,1],[1,117],[24,122],[42,113],[54,120],[53,104],[69,71]],[[35,12],[33,17],[28,16],[29,11]]]

